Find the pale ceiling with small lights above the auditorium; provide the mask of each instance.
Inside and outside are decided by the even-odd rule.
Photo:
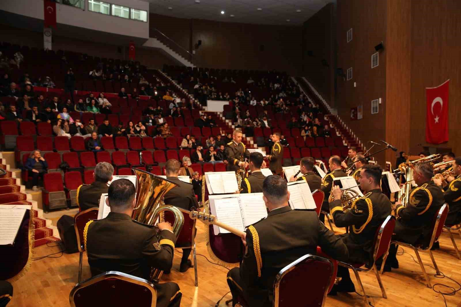
[[[301,25],[336,0],[147,0],[151,13],[248,24]],[[171,7],[171,9],[169,9]],[[258,8],[261,8],[258,11]],[[301,10],[301,12],[296,12]],[[224,11],[225,14],[221,14]],[[234,15],[234,17],[231,17]],[[287,19],[290,19],[287,22]]]

